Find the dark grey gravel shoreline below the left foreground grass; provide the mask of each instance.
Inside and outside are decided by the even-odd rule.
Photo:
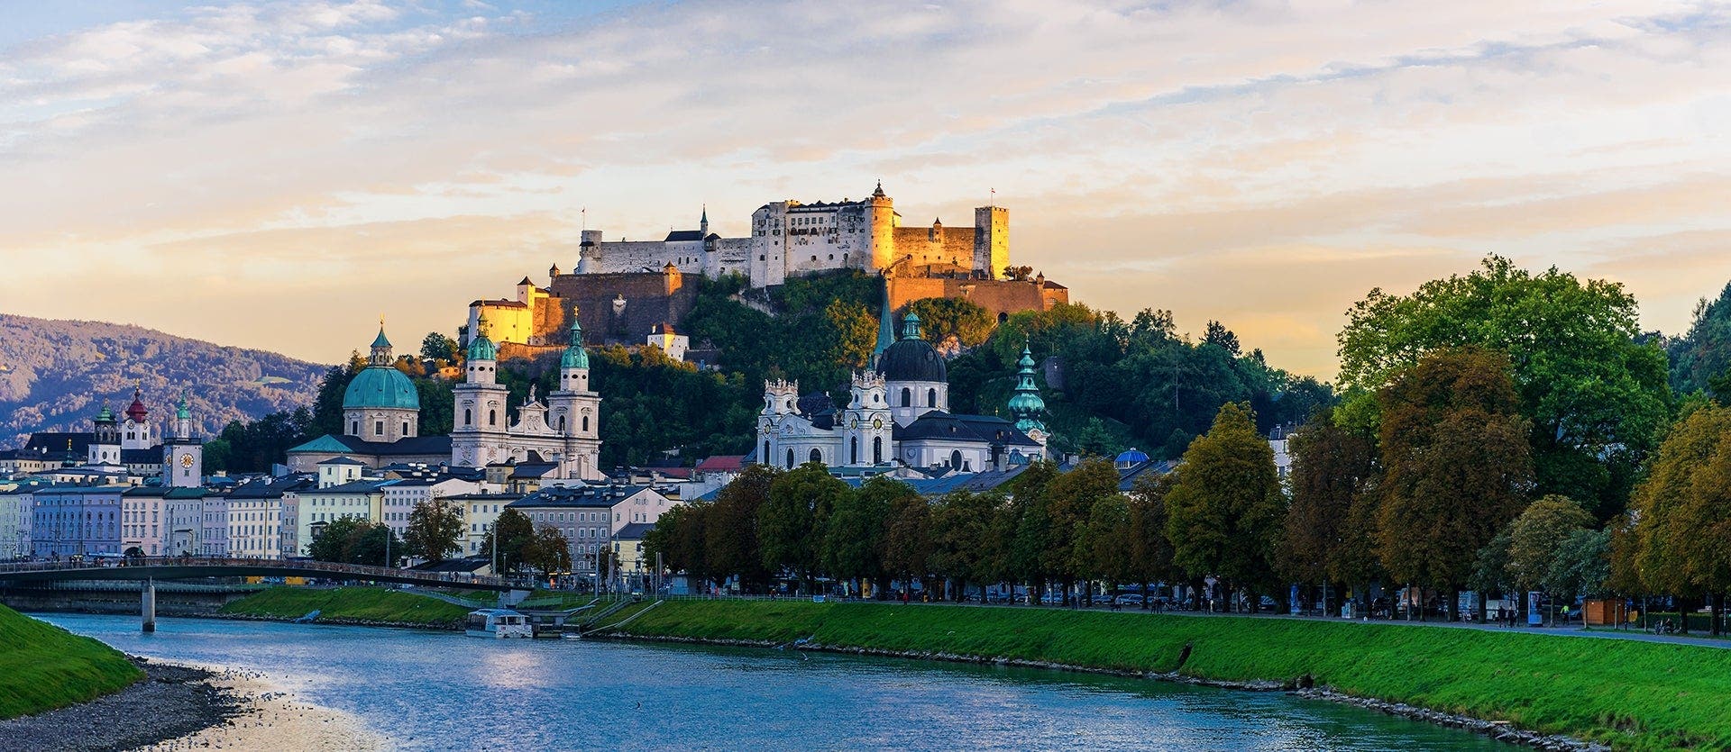
[[[128,659],[144,669],[144,681],[85,704],[0,721],[0,750],[128,750],[241,714],[239,697],[213,683],[222,678],[215,671]]]

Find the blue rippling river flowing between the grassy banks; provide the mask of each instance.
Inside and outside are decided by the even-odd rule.
[[[753,648],[36,614],[119,650],[260,671],[402,749],[1471,750],[1284,693]]]

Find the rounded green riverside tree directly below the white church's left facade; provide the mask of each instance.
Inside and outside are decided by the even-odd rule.
[[[836,503],[853,489],[817,462],[807,462],[769,484],[769,500],[758,507],[758,553],[763,569],[789,572],[810,584],[819,567],[822,529]]]

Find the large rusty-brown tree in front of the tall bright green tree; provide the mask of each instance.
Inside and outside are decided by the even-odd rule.
[[[1376,543],[1397,583],[1454,593],[1478,551],[1525,508],[1528,424],[1506,368],[1499,353],[1438,351],[1378,392]]]

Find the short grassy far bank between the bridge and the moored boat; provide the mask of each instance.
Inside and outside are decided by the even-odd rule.
[[[384,588],[270,588],[222,609],[223,614],[272,619],[299,619],[313,610],[320,619],[450,626],[474,609]]]

